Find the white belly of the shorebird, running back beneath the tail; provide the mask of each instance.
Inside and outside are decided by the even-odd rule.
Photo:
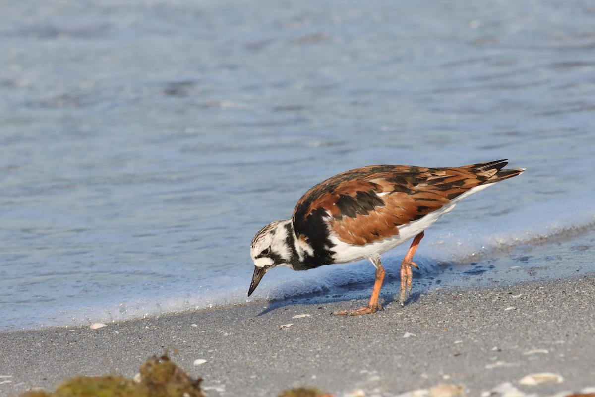
[[[346,263],[359,261],[362,259],[369,259],[375,255],[383,254],[384,252],[393,249],[397,245],[400,245],[407,240],[419,235],[419,233],[430,227],[431,224],[436,222],[442,215],[448,214],[450,211],[452,211],[452,209],[455,208],[455,205],[466,196],[478,192],[479,190],[482,190],[490,185],[491,183],[487,185],[480,185],[468,190],[467,192],[453,199],[453,201],[449,202],[449,204],[444,205],[444,207],[440,208],[440,210],[430,212],[430,214],[425,215],[423,218],[419,218],[418,220],[400,226],[398,228],[398,235],[394,235],[383,240],[378,240],[365,245],[352,245],[342,242],[336,236],[331,236],[330,240],[335,244],[333,250],[336,252],[336,254],[333,255],[333,258],[336,263]]]

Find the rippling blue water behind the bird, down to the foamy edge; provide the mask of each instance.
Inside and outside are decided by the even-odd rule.
[[[255,232],[368,164],[528,168],[428,230],[421,279],[508,274],[532,249],[595,270],[594,18],[588,1],[5,1],[0,330],[241,304]],[[275,269],[250,301],[371,273]]]

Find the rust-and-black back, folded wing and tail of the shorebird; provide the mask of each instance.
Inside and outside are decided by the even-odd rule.
[[[458,195],[483,183],[498,182],[522,170],[502,170],[505,161],[456,168],[369,165],[318,183],[293,211],[296,235],[312,243],[340,240],[364,245],[397,235],[398,227],[436,211]],[[383,194],[384,193],[384,194]],[[323,217],[330,215],[325,224]]]

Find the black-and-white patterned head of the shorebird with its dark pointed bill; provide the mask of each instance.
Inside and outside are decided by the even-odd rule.
[[[254,274],[248,290],[248,296],[258,286],[262,277],[275,266],[292,267],[295,253],[295,235],[290,219],[274,221],[263,227],[252,239],[250,256],[254,261]]]

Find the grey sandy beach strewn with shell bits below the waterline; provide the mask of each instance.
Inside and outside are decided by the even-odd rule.
[[[414,295],[405,307],[392,302],[361,317],[330,313],[365,301],[274,302],[96,330],[4,333],[0,394],[52,389],[77,374],[133,376],[143,360],[166,349],[204,378],[209,396],[275,396],[297,386],[394,396],[441,383],[469,396],[497,387],[519,395],[578,392],[595,387],[593,276]],[[198,359],[206,362],[193,365]],[[533,373],[560,378],[520,382]]]

